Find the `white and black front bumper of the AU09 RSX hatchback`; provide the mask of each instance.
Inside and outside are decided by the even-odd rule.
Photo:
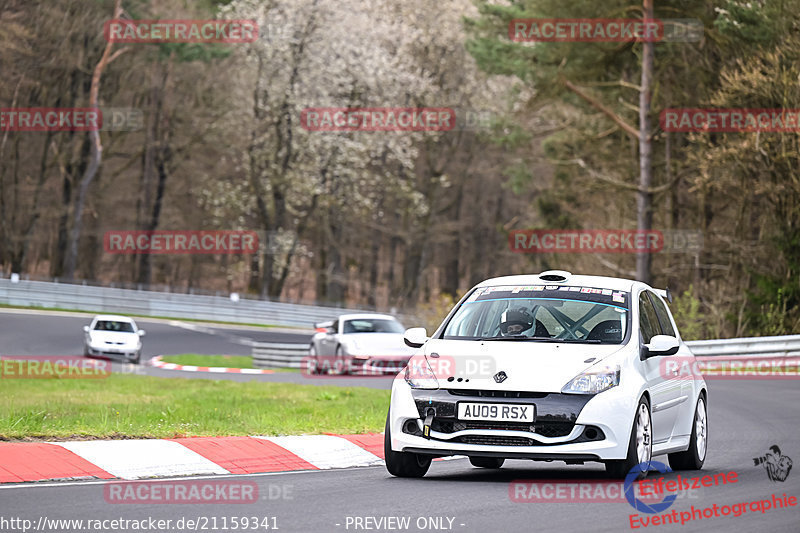
[[[614,405],[615,392],[561,393],[418,390],[404,380],[392,388],[392,449],[436,456],[468,455],[567,462],[622,459],[630,437],[627,417],[598,416],[597,405]],[[459,402],[532,405],[534,423],[478,422],[456,417]],[[433,415],[430,438],[423,421]]]

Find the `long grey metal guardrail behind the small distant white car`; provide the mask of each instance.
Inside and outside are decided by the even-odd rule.
[[[240,324],[310,327],[343,313],[340,307],[290,304],[227,296],[95,287],[71,283],[0,279],[0,304],[52,307],[95,313],[189,318]]]

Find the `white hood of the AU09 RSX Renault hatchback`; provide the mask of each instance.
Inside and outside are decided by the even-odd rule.
[[[425,355],[441,388],[560,392],[576,375],[623,348],[619,344],[430,339]],[[432,353],[439,357],[431,357]]]

